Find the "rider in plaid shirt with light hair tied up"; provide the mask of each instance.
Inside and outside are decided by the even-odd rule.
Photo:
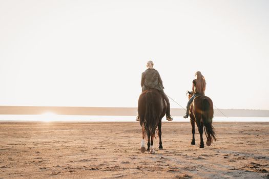
[[[163,92],[163,85],[162,85],[162,80],[160,77],[160,74],[157,70],[153,69],[153,61],[148,61],[147,62],[147,70],[142,73],[141,77],[141,87],[142,87],[142,92],[148,90],[148,89],[157,89],[163,96],[164,100],[167,102],[167,111],[166,111],[166,119],[168,121],[172,121],[173,118],[170,115],[170,102]],[[139,121],[139,116],[137,116],[136,121]]]

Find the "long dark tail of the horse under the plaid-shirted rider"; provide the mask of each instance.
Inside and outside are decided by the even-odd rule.
[[[144,135],[148,134],[153,135],[155,137],[155,130],[157,124],[157,114],[154,110],[154,105],[152,104],[152,92],[146,93],[146,112],[144,117]]]

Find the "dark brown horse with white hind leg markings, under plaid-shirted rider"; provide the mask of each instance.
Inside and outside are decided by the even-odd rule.
[[[157,89],[146,90],[139,96],[137,110],[140,126],[142,127],[142,141],[140,148],[142,153],[146,151],[146,147],[144,146],[145,137],[148,138],[147,151],[155,153],[153,149],[153,140],[156,138],[155,131],[157,131],[159,136],[159,149],[163,149],[161,142],[161,119],[164,117],[166,109],[167,103]]]

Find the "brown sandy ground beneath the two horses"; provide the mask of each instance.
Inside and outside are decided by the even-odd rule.
[[[190,123],[162,124],[163,150],[141,153],[133,123],[1,122],[0,178],[269,178],[269,123],[214,123],[191,145]]]

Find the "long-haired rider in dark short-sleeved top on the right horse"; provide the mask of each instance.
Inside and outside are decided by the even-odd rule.
[[[187,104],[187,110],[186,110],[186,114],[183,116],[183,118],[188,118],[189,117],[189,110],[190,110],[190,105],[193,102],[193,99],[196,96],[204,96],[204,91],[205,91],[205,79],[202,75],[201,72],[196,72],[195,73],[196,79],[193,80],[193,87],[192,87],[192,91],[194,93],[194,95],[191,97],[191,99],[189,100],[188,104]]]

